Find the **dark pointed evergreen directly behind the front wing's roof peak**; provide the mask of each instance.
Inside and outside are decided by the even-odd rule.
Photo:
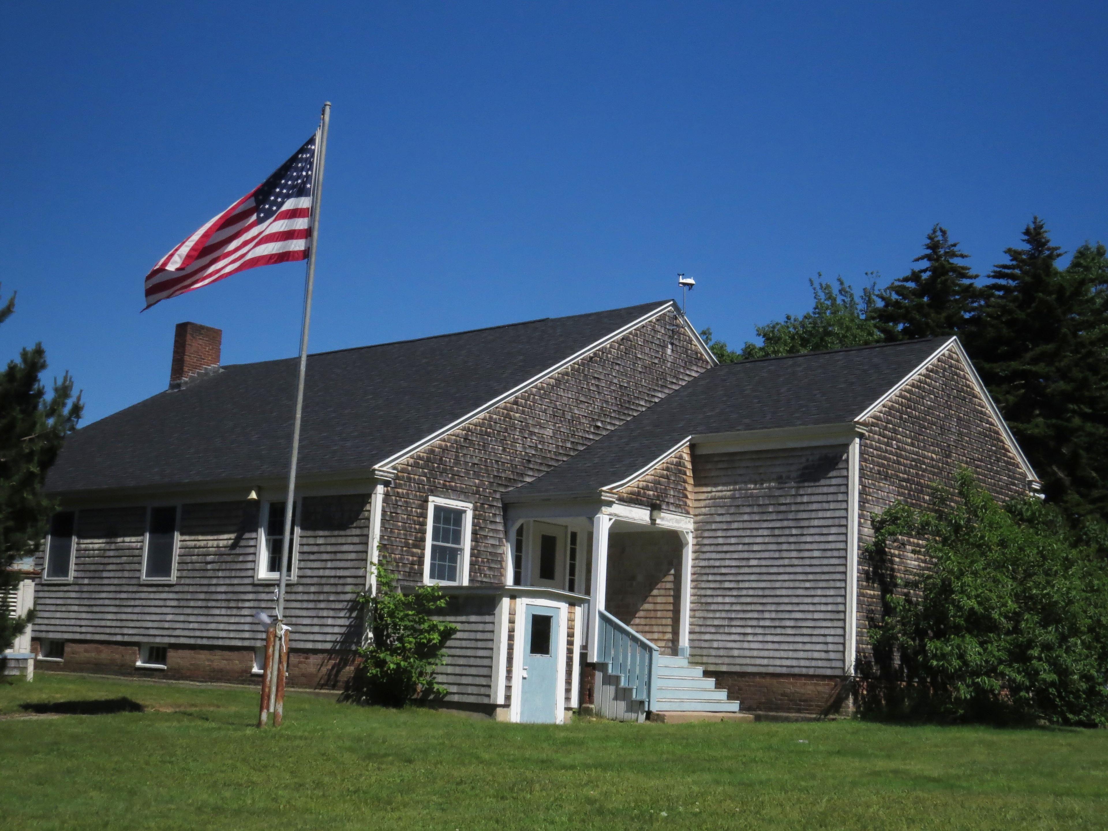
[[[981,302],[977,275],[958,261],[970,255],[951,242],[946,228],[936,224],[923,249],[912,260],[923,267],[913,268],[879,295],[881,306],[873,317],[886,340],[956,335]]]

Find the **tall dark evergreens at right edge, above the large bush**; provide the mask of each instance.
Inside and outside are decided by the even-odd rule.
[[[996,266],[966,340],[989,392],[1071,520],[1108,516],[1108,263],[1083,246],[1065,270],[1042,219]]]

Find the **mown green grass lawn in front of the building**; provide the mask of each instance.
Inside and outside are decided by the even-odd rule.
[[[21,707],[121,697],[143,711]],[[249,689],[0,684],[0,827],[1108,828],[1108,730],[545,727],[296,693],[286,712],[263,731]]]

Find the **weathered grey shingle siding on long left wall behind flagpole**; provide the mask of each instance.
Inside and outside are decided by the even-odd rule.
[[[273,608],[275,582],[255,579],[257,515],[256,502],[186,503],[177,579],[165,585],[140,579],[145,507],[81,510],[73,583],[38,587],[35,637],[260,645],[252,616]],[[350,603],[366,585],[368,545],[366,495],[305,497],[297,579],[286,596],[296,648],[330,649],[357,638]]]

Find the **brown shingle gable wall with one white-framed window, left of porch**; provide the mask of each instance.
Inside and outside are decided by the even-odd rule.
[[[676,315],[597,349],[397,465],[381,544],[407,583],[423,578],[428,495],[473,503],[471,584],[504,583],[501,494],[545,473],[700,375],[708,359]]]

